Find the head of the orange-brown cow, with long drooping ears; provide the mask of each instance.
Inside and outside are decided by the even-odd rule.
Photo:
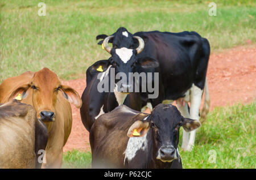
[[[31,91],[28,91],[30,89]],[[32,103],[36,110],[36,116],[44,122],[55,121],[58,93],[62,93],[64,98],[77,108],[82,105],[79,94],[71,87],[61,84],[57,75],[48,68],[35,72],[31,82],[16,88],[11,93],[9,100],[18,94],[24,99],[28,97],[28,93],[32,93]]]

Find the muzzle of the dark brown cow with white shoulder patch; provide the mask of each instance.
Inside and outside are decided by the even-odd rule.
[[[156,159],[161,160],[163,162],[172,162],[177,159],[177,151],[173,145],[162,146],[158,150],[158,156]]]

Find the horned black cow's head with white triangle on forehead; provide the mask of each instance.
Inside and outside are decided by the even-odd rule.
[[[97,38],[104,38],[102,46],[112,55],[109,58],[109,63],[115,68],[115,76],[118,76],[119,72],[122,73],[121,76],[126,76],[126,80],[119,87],[121,92],[134,92],[135,85],[130,82],[137,80],[129,79],[130,72],[148,72],[148,70],[151,72],[159,67],[158,61],[153,58],[137,57],[144,48],[144,41],[139,36],[133,36],[125,28],[119,28],[112,36],[99,35]],[[113,48],[110,48],[109,42],[112,42]],[[117,82],[118,79],[115,79],[115,83]]]

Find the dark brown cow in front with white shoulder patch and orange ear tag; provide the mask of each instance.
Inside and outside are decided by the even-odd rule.
[[[181,126],[189,132],[201,123],[184,118],[171,104],[159,104],[151,114],[118,106],[98,117],[90,130],[92,168],[182,168]]]

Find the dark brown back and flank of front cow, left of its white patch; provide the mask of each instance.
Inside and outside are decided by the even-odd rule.
[[[124,152],[129,140],[127,131],[135,121],[147,116],[148,114],[137,112],[124,105],[101,115],[90,130],[92,168],[124,168]]]

